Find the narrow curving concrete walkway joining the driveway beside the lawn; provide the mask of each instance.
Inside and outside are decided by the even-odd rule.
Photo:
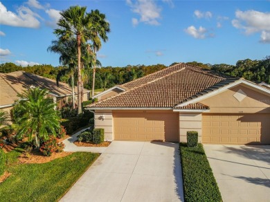
[[[93,153],[102,153],[107,149],[107,147],[78,147],[74,144],[75,140],[78,140],[77,136],[81,134],[82,132],[86,131],[86,129],[82,129],[81,131],[78,131],[76,134],[71,136],[70,138],[66,138],[62,141],[64,143],[64,152],[93,152]]]

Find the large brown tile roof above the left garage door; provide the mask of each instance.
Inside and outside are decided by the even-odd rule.
[[[127,91],[89,104],[90,108],[173,108],[215,84],[226,84],[233,77],[207,69],[177,64],[146,77],[123,84]],[[234,79],[235,80],[235,79]],[[130,89],[128,89],[130,88]],[[193,104],[186,109],[205,109]],[[185,108],[181,108],[185,109]]]

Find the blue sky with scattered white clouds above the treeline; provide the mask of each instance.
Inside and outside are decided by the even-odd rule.
[[[48,53],[59,12],[98,9],[111,24],[102,66],[235,64],[270,55],[270,1],[0,1],[0,62],[59,65]]]

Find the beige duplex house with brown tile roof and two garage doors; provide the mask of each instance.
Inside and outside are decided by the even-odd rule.
[[[107,98],[108,96],[112,96]],[[177,64],[96,95],[89,104],[105,140],[270,143],[270,90],[242,78]]]

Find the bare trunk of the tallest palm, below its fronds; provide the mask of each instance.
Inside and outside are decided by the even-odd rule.
[[[81,67],[80,67],[80,57],[81,57],[81,36],[77,35],[77,50],[78,50],[78,114],[82,113],[82,75],[81,75]]]

